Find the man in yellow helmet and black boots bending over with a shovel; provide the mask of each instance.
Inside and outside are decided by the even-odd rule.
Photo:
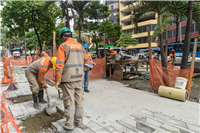
[[[49,56],[47,56],[34,61],[25,70],[25,76],[29,82],[30,89],[33,94],[33,107],[35,109],[41,108],[41,106],[38,104],[38,98],[39,103],[47,103],[47,101],[44,100],[43,88],[47,89],[47,85],[44,81],[44,76],[49,68],[54,67],[55,69],[55,65],[56,57],[51,59]]]

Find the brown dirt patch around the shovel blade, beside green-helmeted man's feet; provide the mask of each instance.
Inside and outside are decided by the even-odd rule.
[[[43,111],[36,114],[34,117],[26,118],[22,124],[25,132],[35,133],[50,128],[52,122],[56,122],[60,119],[63,119],[63,116],[59,113],[48,116],[46,112]]]

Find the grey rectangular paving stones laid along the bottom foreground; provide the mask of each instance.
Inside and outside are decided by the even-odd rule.
[[[54,133],[64,133],[65,119],[52,123]],[[74,133],[199,133],[200,126],[162,113],[143,109],[107,127],[84,117],[83,126]]]

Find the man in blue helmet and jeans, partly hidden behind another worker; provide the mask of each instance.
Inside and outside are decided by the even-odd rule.
[[[84,91],[89,93],[90,91],[88,90],[88,85],[89,85],[89,76],[90,76],[91,67],[89,67],[87,64],[92,62],[92,57],[90,53],[88,53],[88,49],[89,49],[88,45],[84,44],[83,47],[85,48],[85,52],[88,55],[88,58],[84,60],[85,65],[84,65],[84,78],[83,78],[82,86],[84,88]]]

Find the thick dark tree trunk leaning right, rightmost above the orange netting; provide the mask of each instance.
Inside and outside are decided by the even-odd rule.
[[[188,64],[188,54],[190,50],[191,41],[191,29],[192,29],[192,11],[193,11],[193,0],[189,0],[188,7],[188,19],[185,32],[185,40],[183,44],[183,56],[181,61],[181,69],[187,69]]]

